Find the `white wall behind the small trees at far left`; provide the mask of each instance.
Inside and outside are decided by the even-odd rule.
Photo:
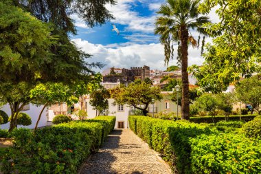
[[[29,104],[30,105],[30,109],[27,111],[21,111],[23,113],[27,113],[31,119],[32,119],[32,124],[30,126],[18,126],[18,128],[20,127],[25,127],[25,128],[29,128],[29,129],[33,129],[35,127],[35,124],[38,120],[38,116],[41,112],[41,110],[43,109],[43,105],[33,105],[33,104]],[[5,113],[8,114],[8,116],[11,115],[11,110],[10,110],[10,106],[9,105],[3,105],[3,107],[0,108],[0,110],[5,111]],[[41,116],[41,120],[38,123],[38,127],[45,127],[47,125],[47,116],[48,116],[48,109],[45,108],[45,111],[43,111],[42,116]],[[10,122],[8,122],[7,124],[0,124],[1,129],[9,129],[10,127]]]

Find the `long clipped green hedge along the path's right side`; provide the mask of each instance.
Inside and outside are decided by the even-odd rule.
[[[203,124],[129,116],[130,128],[176,173],[261,173],[261,140]]]

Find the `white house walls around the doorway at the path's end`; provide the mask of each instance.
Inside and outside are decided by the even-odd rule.
[[[87,113],[88,118],[95,118],[96,111],[90,105],[90,99],[86,99],[87,102]],[[124,105],[124,111],[118,111],[118,105],[113,105],[114,99],[109,99],[109,114],[108,116],[116,116],[116,124],[115,129],[117,129],[117,122],[124,122],[124,128],[128,128],[128,111],[130,111],[131,107]]]

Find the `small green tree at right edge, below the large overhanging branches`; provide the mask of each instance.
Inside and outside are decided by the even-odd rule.
[[[261,75],[245,78],[236,85],[238,100],[250,104],[258,110],[261,103]]]

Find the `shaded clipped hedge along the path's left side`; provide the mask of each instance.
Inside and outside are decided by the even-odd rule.
[[[115,117],[102,116],[54,127],[16,129],[14,146],[6,149],[1,171],[4,173],[77,173],[90,153],[98,150],[113,130]]]

